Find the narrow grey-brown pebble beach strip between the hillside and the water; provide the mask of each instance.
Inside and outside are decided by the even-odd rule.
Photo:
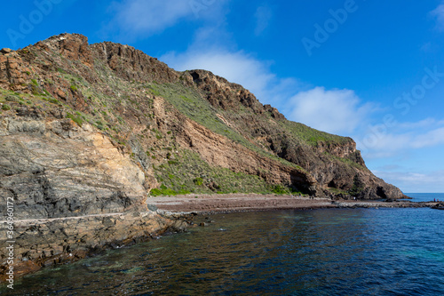
[[[147,204],[163,215],[213,214],[229,212],[263,212],[279,210],[314,210],[327,208],[432,208],[436,202],[406,200],[332,200],[329,197],[306,197],[258,194],[150,196]]]

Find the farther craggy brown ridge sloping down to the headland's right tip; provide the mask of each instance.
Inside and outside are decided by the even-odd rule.
[[[241,85],[229,83],[208,71],[192,70],[185,76],[187,85],[194,84],[202,90],[226,125],[256,147],[304,169],[315,195],[353,195],[358,198],[403,196],[398,188],[369,172],[351,138],[289,122],[276,108],[260,104]],[[220,116],[222,113],[223,116]]]

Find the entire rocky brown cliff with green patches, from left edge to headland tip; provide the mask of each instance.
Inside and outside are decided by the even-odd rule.
[[[0,104],[0,211],[13,200],[25,268],[182,228],[148,210],[149,193],[403,196],[366,168],[352,139],[127,45],[63,34],[4,49]]]

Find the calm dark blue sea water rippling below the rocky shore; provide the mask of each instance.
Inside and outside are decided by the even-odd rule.
[[[416,200],[444,195],[415,195]],[[12,295],[443,295],[444,211],[214,215],[207,228],[21,278]]]

